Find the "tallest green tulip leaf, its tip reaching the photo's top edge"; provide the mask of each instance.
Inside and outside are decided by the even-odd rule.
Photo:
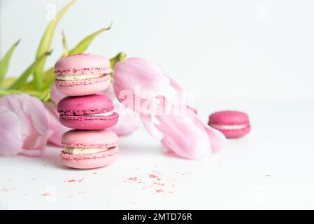
[[[57,13],[54,20],[51,20],[49,23],[47,29],[45,30],[45,33],[43,34],[43,37],[41,38],[41,43],[39,43],[38,50],[36,53],[36,59],[41,57],[45,52],[48,52],[50,50],[50,45],[52,43],[53,34],[55,33],[55,28],[57,27],[58,22],[61,20],[61,18],[64,16],[67,10],[69,10],[73,4],[76,2],[76,0],[71,1],[69,4],[64,6],[62,10]],[[36,65],[36,68],[34,70],[34,80],[36,79],[36,88],[41,88],[41,75],[43,74],[43,67],[45,65],[45,59],[41,60],[39,64]]]

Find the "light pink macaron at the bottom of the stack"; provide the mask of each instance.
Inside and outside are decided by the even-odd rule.
[[[110,165],[117,158],[118,138],[107,130],[71,130],[62,135],[64,165],[92,169]]]

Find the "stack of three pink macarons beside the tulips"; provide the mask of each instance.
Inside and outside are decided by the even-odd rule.
[[[67,167],[104,167],[117,158],[117,135],[105,129],[119,116],[111,99],[97,94],[110,86],[111,71],[109,59],[99,55],[69,55],[55,64],[57,90],[68,96],[58,104],[59,120],[73,129],[62,136]]]

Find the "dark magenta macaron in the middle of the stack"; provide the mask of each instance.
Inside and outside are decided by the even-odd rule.
[[[101,130],[117,123],[113,102],[102,94],[65,97],[59,101],[59,120],[62,125],[78,130]]]

